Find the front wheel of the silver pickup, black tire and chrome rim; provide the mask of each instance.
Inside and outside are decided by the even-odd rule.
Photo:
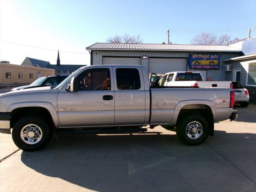
[[[24,151],[37,151],[44,148],[52,138],[49,125],[38,117],[24,117],[13,126],[12,140]]]

